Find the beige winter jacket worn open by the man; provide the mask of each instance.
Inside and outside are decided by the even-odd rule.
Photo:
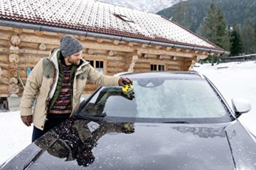
[[[26,81],[26,86],[21,98],[21,115],[33,115],[33,124],[36,128],[43,130],[46,123],[47,105],[50,98],[53,97],[57,82],[58,82],[58,60],[57,48],[50,52],[48,60],[50,60],[50,67],[55,67],[55,72],[49,73],[49,65],[43,66],[43,59],[33,68]],[[44,68],[43,68],[44,67]],[[118,86],[120,77],[110,77],[97,72],[89,62],[82,60],[82,64],[75,72],[75,79],[73,84],[73,109],[71,115],[78,111],[80,105],[80,96],[85,88],[86,81],[99,86]],[[36,105],[32,112],[33,101],[36,99]]]

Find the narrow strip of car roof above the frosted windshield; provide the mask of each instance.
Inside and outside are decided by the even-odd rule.
[[[203,74],[196,71],[190,72],[120,72],[114,76],[129,77],[129,78],[155,78],[155,77],[169,77],[182,79],[205,79]]]

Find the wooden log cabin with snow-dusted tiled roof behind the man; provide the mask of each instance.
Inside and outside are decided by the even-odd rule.
[[[0,97],[22,96],[27,69],[60,38],[80,40],[99,72],[189,71],[225,50],[168,18],[93,0],[0,1]],[[87,84],[84,94],[97,86]]]

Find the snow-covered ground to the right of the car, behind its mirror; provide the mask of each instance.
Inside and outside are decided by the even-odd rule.
[[[225,68],[228,67],[228,68]],[[195,70],[215,84],[231,106],[231,98],[245,98],[252,104],[252,111],[239,120],[256,135],[256,62],[230,62],[211,66],[203,64]]]

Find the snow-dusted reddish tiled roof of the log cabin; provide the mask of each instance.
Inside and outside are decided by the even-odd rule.
[[[223,50],[163,16],[100,1],[1,0],[0,20]]]

